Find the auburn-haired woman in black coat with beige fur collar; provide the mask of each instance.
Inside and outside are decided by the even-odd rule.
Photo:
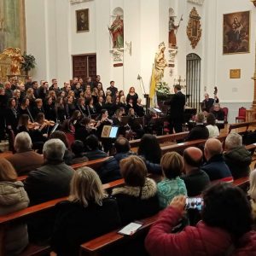
[[[159,211],[157,186],[153,179],[147,177],[144,161],[131,155],[120,160],[120,172],[125,185],[113,189],[112,195],[119,206],[122,224],[146,218]]]

